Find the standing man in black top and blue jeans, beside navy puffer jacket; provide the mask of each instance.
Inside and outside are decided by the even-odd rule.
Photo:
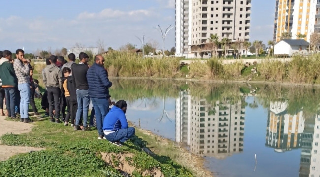
[[[79,54],[80,62],[79,64],[72,64],[71,73],[72,78],[75,84],[76,93],[77,93],[77,102],[78,102],[78,110],[76,113],[76,120],[74,130],[80,130],[80,117],[83,114],[83,131],[88,130],[87,127],[87,118],[88,118],[88,110],[90,104],[89,97],[89,86],[87,81],[87,71],[89,69],[88,66],[88,54],[84,52],[80,52]]]

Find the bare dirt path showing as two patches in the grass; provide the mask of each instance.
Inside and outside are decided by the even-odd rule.
[[[0,137],[6,133],[28,133],[34,125],[32,123],[21,123],[5,120],[5,116],[0,116]],[[0,142],[0,161],[7,160],[9,157],[19,154],[28,153],[30,151],[43,150],[44,148],[7,146],[1,145]]]

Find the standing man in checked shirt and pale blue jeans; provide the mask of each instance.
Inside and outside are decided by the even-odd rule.
[[[25,52],[22,49],[16,50],[16,57],[14,59],[13,68],[18,78],[18,90],[20,92],[20,116],[24,118],[24,122],[32,122],[29,119],[29,103],[30,103],[30,78],[29,65],[25,59]]]

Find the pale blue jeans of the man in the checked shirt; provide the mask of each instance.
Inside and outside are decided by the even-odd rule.
[[[18,84],[20,91],[20,116],[21,118],[29,118],[29,103],[30,103],[30,84]]]

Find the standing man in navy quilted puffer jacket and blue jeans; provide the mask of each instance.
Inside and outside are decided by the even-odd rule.
[[[95,109],[96,128],[99,132],[98,139],[102,139],[104,134],[102,123],[104,117],[109,112],[109,88],[112,82],[108,79],[108,72],[104,69],[104,58],[102,55],[95,56],[95,63],[89,68],[87,79],[89,84],[89,96]]]

